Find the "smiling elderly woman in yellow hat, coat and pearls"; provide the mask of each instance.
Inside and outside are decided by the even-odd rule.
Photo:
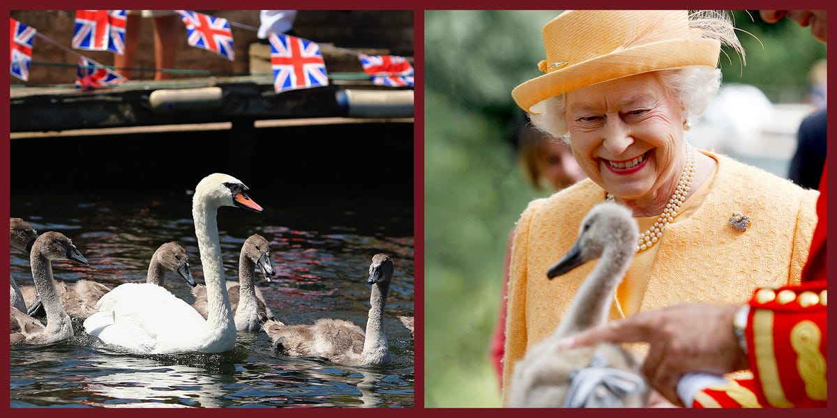
[[[725,14],[573,10],[543,39],[546,74],[512,96],[568,141],[588,180],[531,201],[517,222],[504,401],[516,361],[557,327],[593,268],[547,280],[598,202],[627,206],[640,231],[610,319],[687,301],[740,304],[755,288],[798,283],[817,221],[818,191],[684,139],[720,87],[721,43],[744,56]]]

